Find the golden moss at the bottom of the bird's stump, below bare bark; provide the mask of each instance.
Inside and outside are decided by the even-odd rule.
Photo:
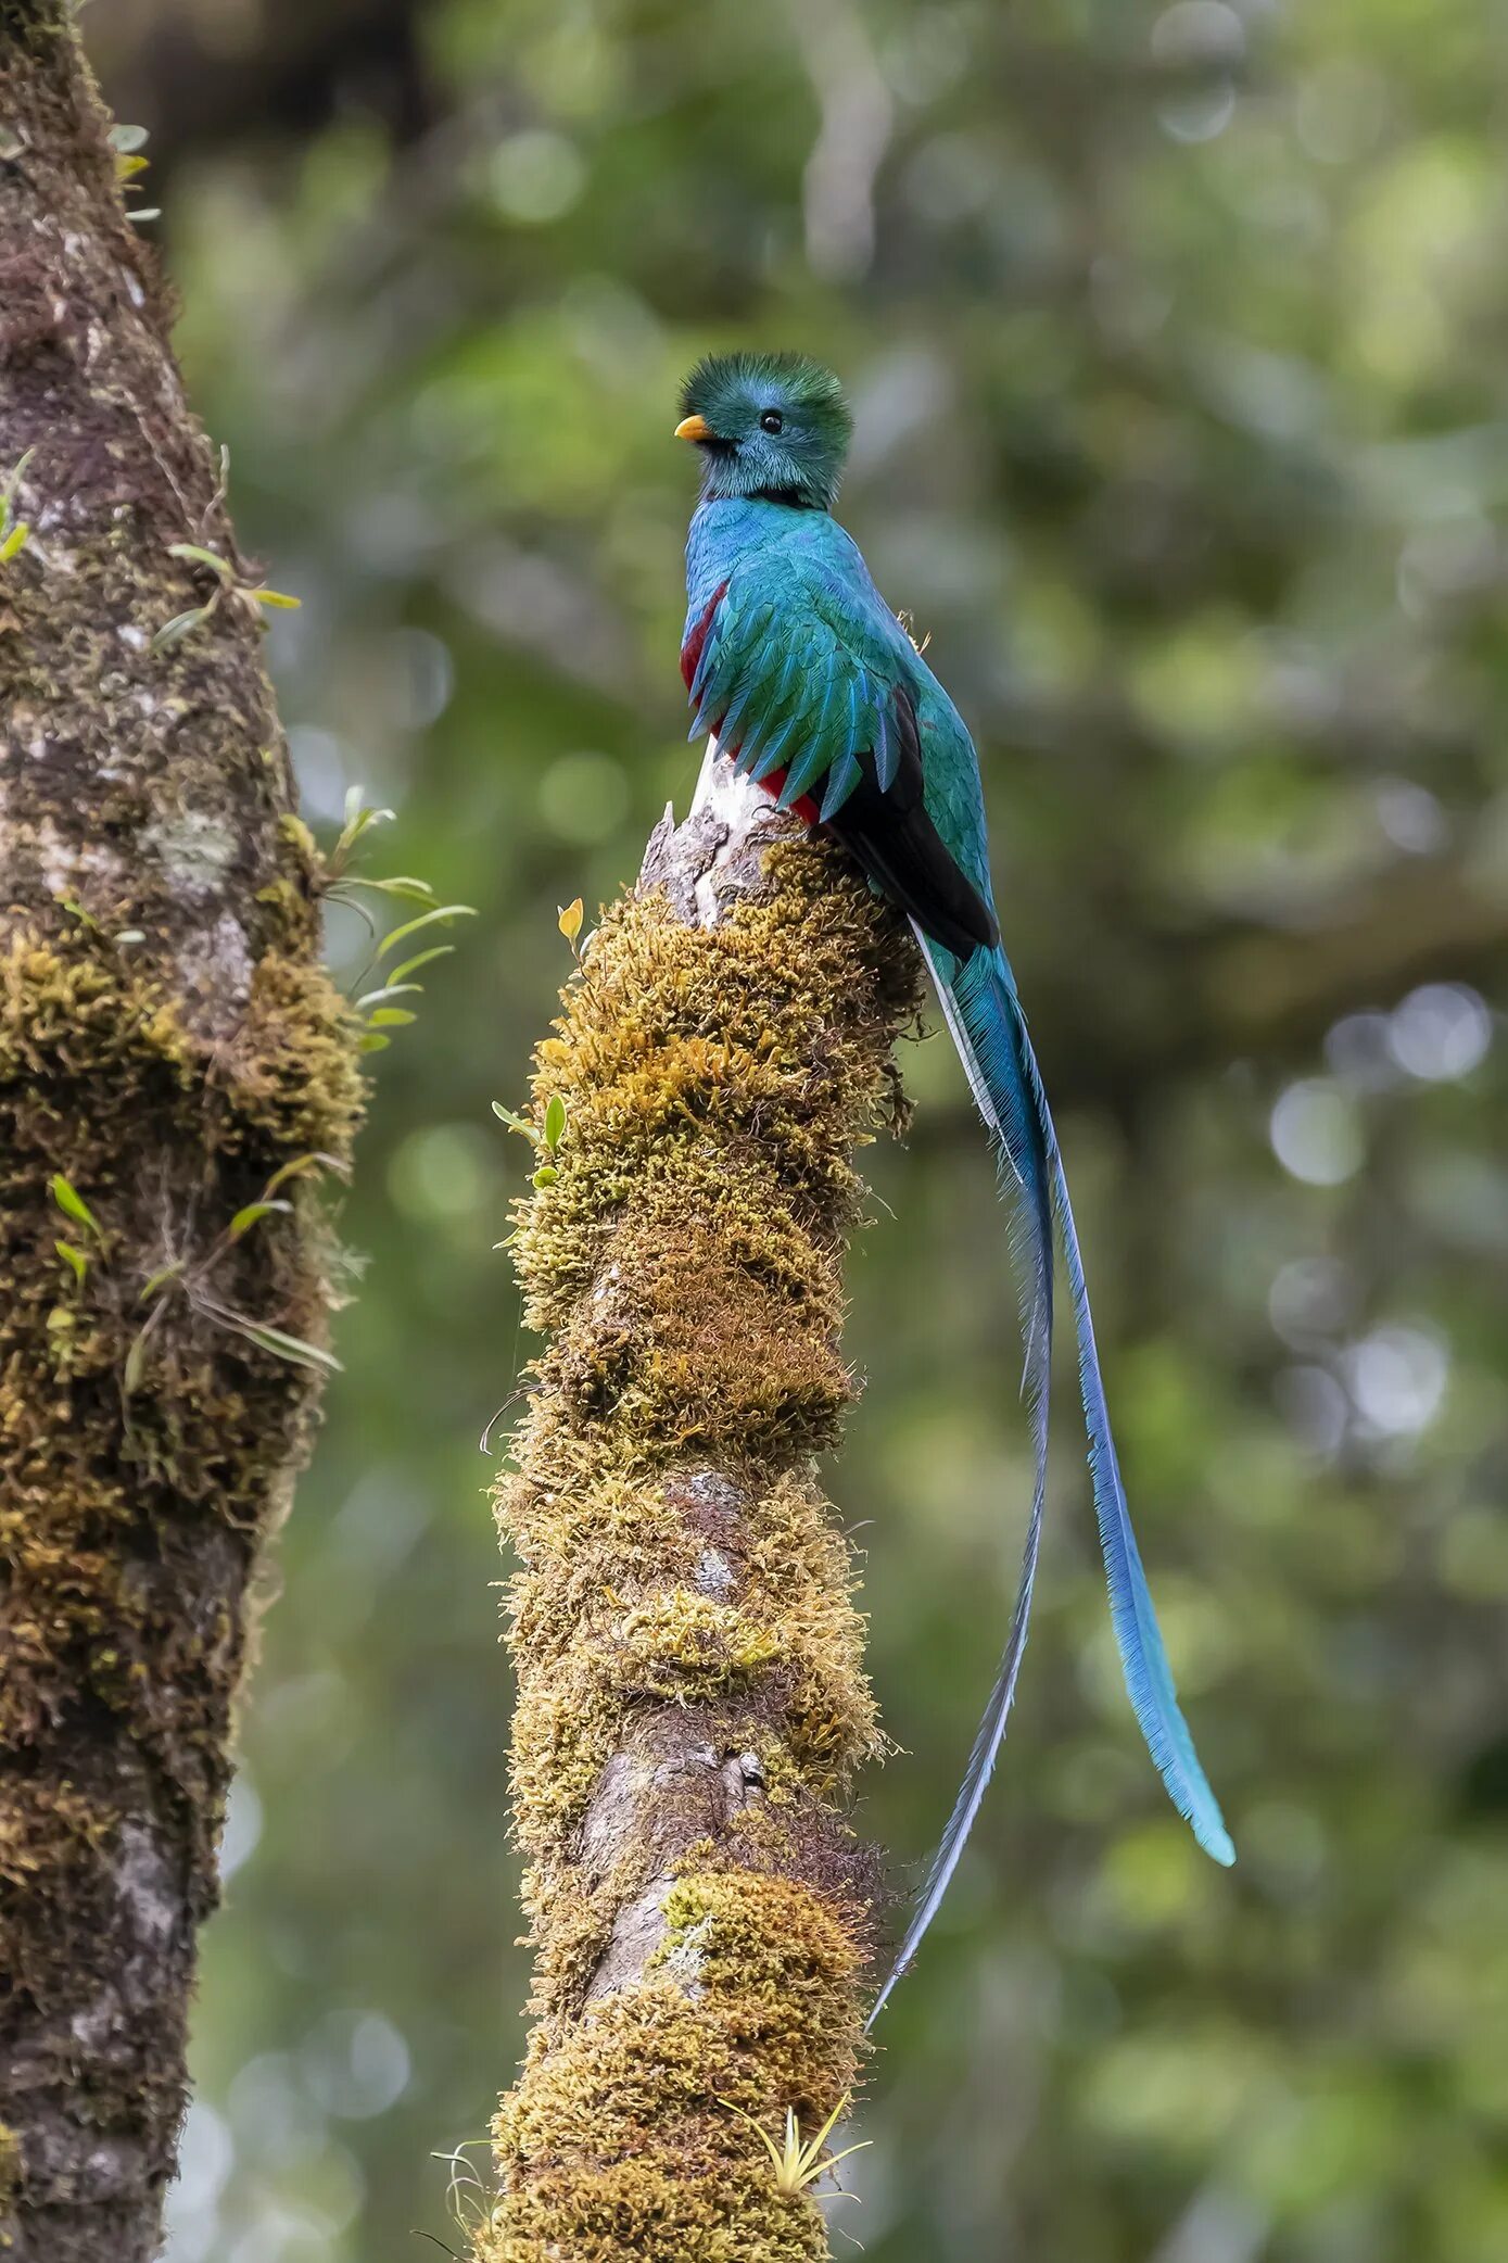
[[[504,2193],[482,2263],[796,2263],[827,2254],[739,2118],[821,2127],[852,2089],[859,1957],[841,1912],[787,1878],[692,1874],[651,1969],[552,2043],[504,2100]]]

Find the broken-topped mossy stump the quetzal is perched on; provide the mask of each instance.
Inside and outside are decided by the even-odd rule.
[[[538,2025],[482,2263],[827,2254],[751,2123],[812,2136],[859,2057],[875,1869],[839,1801],[877,1727],[816,1455],[916,957],[800,831],[710,763],[538,1050],[547,1346],[500,1489]]]

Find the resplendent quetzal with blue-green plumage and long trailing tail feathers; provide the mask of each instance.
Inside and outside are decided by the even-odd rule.
[[[1013,1197],[1024,1396],[1035,1437],[1022,1577],[968,1774],[877,2012],[959,1862],[1026,1647],[1047,1480],[1054,1217],[1074,1299],[1094,1509],[1126,1688],[1198,1844],[1216,1862],[1234,1862],[1234,1847],[1178,1711],[1130,1530],[1063,1156],[995,919],[979,758],[952,699],[832,518],[852,430],[843,391],[800,355],[733,353],[701,362],[681,405],[676,437],[694,441],[703,457],[681,647],[696,711],[692,738],[712,731],[780,808],[837,835],[907,912]]]

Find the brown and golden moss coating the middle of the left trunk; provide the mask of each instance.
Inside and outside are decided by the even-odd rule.
[[[176,1810],[199,1908],[215,1894],[242,1593],[312,1421],[307,1374],[226,1315],[319,1337],[328,1308],[310,1184],[235,1245],[224,1227],[294,1156],[341,1161],[359,1109],[350,1014],[312,964],[269,950],[224,1041],[199,1034],[161,957],[88,923],[20,923],[0,948],[0,1752],[45,1752],[81,1706],[115,1722]],[[97,1231],[61,1217],[57,1172]],[[59,1233],[84,1245],[81,1281]],[[18,1994],[45,1991],[54,1944],[14,1910],[88,1901],[122,1813],[104,1779],[11,1776],[0,1885],[27,1892],[7,1896],[2,1978]]]

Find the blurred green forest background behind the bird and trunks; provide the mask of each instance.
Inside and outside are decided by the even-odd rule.
[[[970,717],[1169,1645],[1119,1693],[1063,1374],[1006,1761],[884,2021],[870,2263],[1508,2254],[1508,16],[1481,0],[111,0],[142,229],[326,835],[477,907],[373,1061],[344,1374],[278,1546],[172,2263],[461,2247],[522,2041],[484,1426],[556,905],[696,756],[708,346],[850,380],[843,514]],[[359,932],[330,950],[357,973]],[[950,1804],[1029,1491],[945,1039],[830,1471]],[[506,1417],[493,1428],[493,1451]],[[470,2193],[475,2200],[475,2193]],[[461,2195],[466,2206],[468,2195]],[[843,2238],[837,2238],[843,2252]]]

